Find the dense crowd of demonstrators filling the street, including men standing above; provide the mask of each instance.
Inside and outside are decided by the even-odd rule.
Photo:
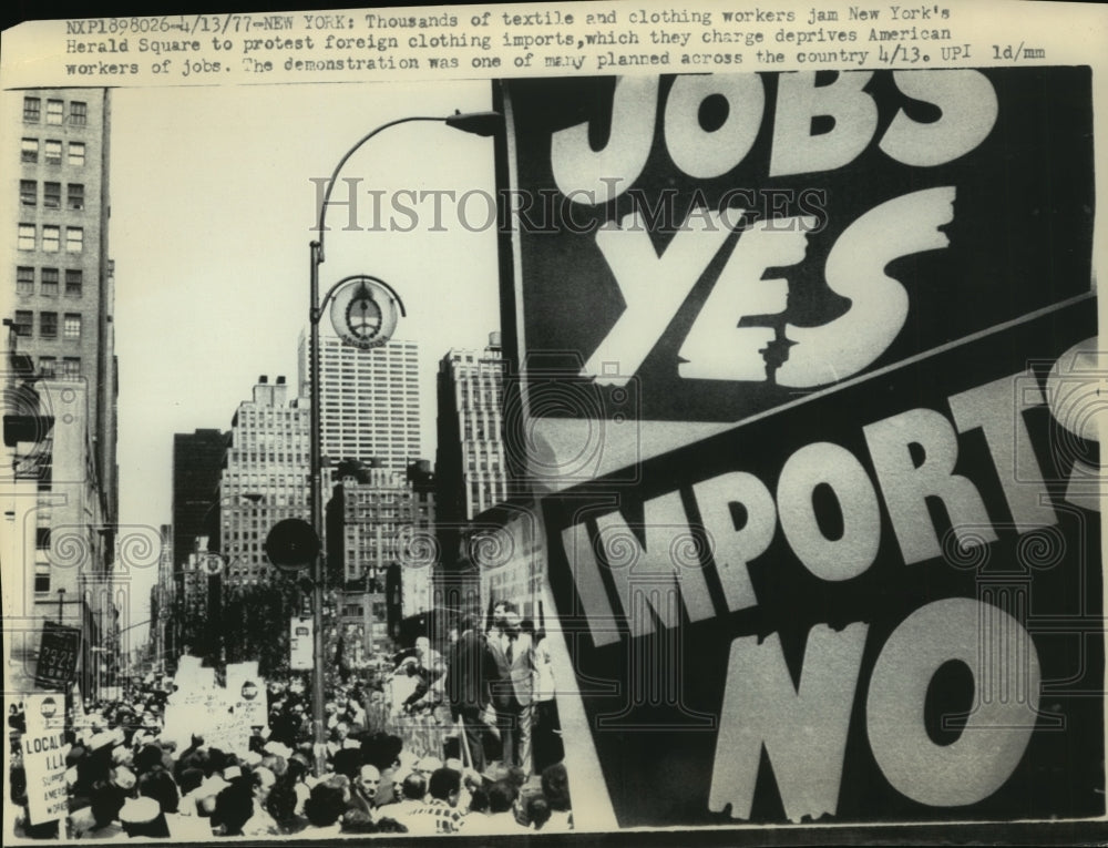
[[[165,727],[166,693],[145,683],[70,723],[69,816],[39,825],[28,818],[23,719],[13,705],[16,835],[192,841],[570,830],[548,663],[542,633],[502,602],[488,627],[463,620],[443,652],[421,638],[398,656],[388,676],[410,684],[402,701],[391,702],[380,680],[356,676],[330,689],[324,745],[304,682],[270,681],[268,725],[254,727],[243,750],[209,745],[203,733],[179,747]],[[420,713],[447,733],[406,734]]]

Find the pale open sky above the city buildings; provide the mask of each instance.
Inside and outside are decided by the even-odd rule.
[[[171,521],[173,435],[229,429],[259,375],[296,385],[307,325],[317,188],[386,121],[491,109],[490,83],[117,89],[112,95],[110,255],[115,260],[121,534]],[[389,283],[420,343],[423,454],[434,458],[434,372],[452,347],[500,327],[496,234],[486,226],[493,144],[439,123],[386,130],[343,166],[357,208],[328,212],[320,288]],[[346,200],[345,183],[332,200]],[[380,195],[380,227],[373,195]],[[453,191],[391,213],[397,192]],[[399,232],[412,228],[412,232]],[[382,232],[383,229],[383,232]],[[328,319],[321,325],[327,328]],[[372,354],[366,354],[371,356]],[[148,615],[153,569],[133,572],[130,621]],[[135,627],[141,640],[145,627]],[[137,641],[137,640],[136,640]],[[132,643],[134,644],[134,642]]]

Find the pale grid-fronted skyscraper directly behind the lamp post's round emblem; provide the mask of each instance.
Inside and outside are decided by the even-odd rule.
[[[300,335],[299,362],[299,391],[308,397],[306,334]],[[319,370],[322,456],[332,466],[376,459],[403,474],[409,460],[422,456],[419,346],[392,340],[359,350],[320,333]]]

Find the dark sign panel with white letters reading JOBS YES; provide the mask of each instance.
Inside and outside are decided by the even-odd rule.
[[[1088,69],[504,90],[521,358],[605,408],[736,421],[1089,288]]]

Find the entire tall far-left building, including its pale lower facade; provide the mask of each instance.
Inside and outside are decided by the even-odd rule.
[[[113,268],[107,252],[111,99],[106,89],[3,95],[19,131],[2,168],[11,311],[6,357],[6,622],[10,662],[33,674],[47,622],[81,633],[81,684],[101,683],[119,607]],[[11,667],[11,666],[9,666]],[[19,674],[10,681],[25,684]]]

